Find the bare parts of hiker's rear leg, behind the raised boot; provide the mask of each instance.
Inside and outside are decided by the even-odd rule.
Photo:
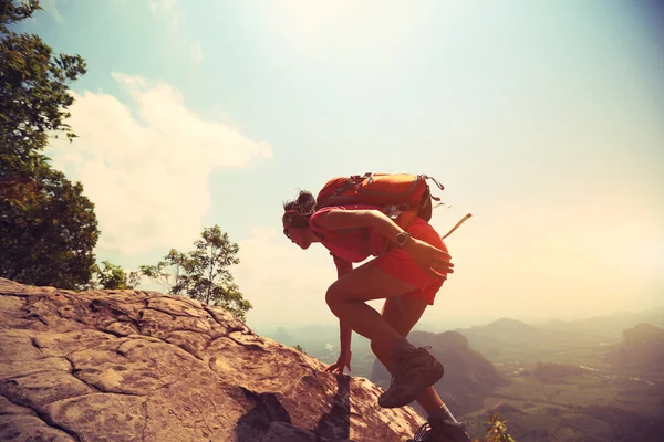
[[[381,315],[401,336],[407,337],[411,329],[422,317],[427,305],[425,301],[411,296],[392,297],[385,299]],[[392,372],[393,358],[390,350],[380,347],[373,340],[371,341],[371,349],[387,371]],[[434,386],[426,388],[415,400],[427,414],[433,414],[443,407],[443,400]]]

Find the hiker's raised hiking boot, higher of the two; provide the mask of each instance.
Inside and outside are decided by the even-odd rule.
[[[378,397],[382,408],[404,407],[443,377],[443,365],[428,351],[430,347],[395,351],[390,388]]]

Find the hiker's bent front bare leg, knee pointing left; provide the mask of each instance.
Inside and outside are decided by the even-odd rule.
[[[383,272],[370,261],[336,280],[325,294],[332,313],[355,333],[392,349],[402,337],[366,301],[391,298],[412,292],[415,287]]]

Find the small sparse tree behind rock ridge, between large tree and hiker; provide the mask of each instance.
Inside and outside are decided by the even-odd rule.
[[[218,225],[206,228],[188,253],[172,249],[156,265],[139,272],[158,282],[169,294],[184,294],[201,303],[220,306],[246,320],[251,303],[235,284],[230,266],[239,264],[239,246]]]

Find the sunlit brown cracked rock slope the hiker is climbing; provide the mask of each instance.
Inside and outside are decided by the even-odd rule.
[[[424,422],[323,369],[187,297],[0,278],[1,441],[392,442]]]

